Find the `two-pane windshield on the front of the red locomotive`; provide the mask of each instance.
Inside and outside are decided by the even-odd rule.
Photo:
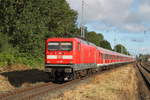
[[[48,50],[70,51],[72,50],[72,43],[71,42],[49,42]]]

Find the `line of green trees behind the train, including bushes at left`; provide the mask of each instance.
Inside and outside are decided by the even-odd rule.
[[[77,17],[66,0],[0,0],[0,66],[42,64],[46,38],[80,35]],[[112,50],[102,34],[86,38]]]

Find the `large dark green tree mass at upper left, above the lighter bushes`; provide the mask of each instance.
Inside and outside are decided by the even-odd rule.
[[[20,53],[43,55],[46,38],[77,30],[77,12],[66,0],[0,0],[0,13],[0,32]]]

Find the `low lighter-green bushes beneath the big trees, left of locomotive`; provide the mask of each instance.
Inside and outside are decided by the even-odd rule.
[[[44,59],[42,57],[34,58],[28,54],[11,54],[8,52],[0,53],[0,67],[12,64],[24,64],[36,68],[44,65]]]

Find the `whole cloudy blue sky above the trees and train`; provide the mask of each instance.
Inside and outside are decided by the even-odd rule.
[[[66,0],[79,14],[82,0]],[[133,54],[150,54],[150,0],[84,0],[84,25],[102,33],[112,48],[123,44]]]

